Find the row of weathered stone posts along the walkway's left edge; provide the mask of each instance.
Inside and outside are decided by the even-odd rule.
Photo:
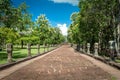
[[[38,55],[40,54],[40,44],[37,44],[37,49],[38,49]],[[6,50],[7,50],[7,55],[8,55],[8,62],[11,63],[12,61],[12,52],[13,52],[13,45],[11,43],[8,43],[6,45]],[[27,50],[28,50],[28,57],[32,57],[31,55],[31,44],[27,44]],[[45,46],[44,46],[44,52],[45,52]]]

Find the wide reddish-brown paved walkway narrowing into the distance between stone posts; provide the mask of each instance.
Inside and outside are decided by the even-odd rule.
[[[120,80],[117,74],[120,71],[64,45],[0,71],[0,80],[112,80],[113,77]]]

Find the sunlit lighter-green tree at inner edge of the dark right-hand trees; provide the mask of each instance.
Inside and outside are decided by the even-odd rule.
[[[71,43],[76,43],[76,44],[79,44],[80,40],[81,40],[78,16],[79,16],[79,14],[77,12],[75,12],[71,15],[72,24],[70,25],[70,28],[68,30],[68,41]]]

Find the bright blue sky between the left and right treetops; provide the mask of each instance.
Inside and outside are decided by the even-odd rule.
[[[26,2],[28,11],[32,14],[32,20],[45,14],[52,26],[68,27],[71,23],[70,15],[78,12],[78,0],[12,0],[14,6]]]

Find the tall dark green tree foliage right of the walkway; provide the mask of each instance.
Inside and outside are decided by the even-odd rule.
[[[115,40],[119,6],[119,0],[80,0],[79,13],[71,15],[69,41],[77,44],[89,42],[91,47],[99,42],[101,49],[108,48],[109,40]]]

